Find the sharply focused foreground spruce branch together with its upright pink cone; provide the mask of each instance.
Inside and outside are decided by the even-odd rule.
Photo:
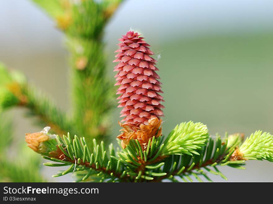
[[[122,150],[108,149],[104,142],[93,148],[84,137],[52,136],[43,130],[26,134],[26,141],[43,158],[57,163],[46,166],[69,166],[54,176],[77,172],[77,181],[100,182],[173,182],[192,181],[195,177],[211,181],[208,174],[227,179],[218,166],[244,169],[245,160],[273,161],[273,136],[256,131],[243,140],[242,134],[213,140],[202,123],[184,122],[162,136],[163,112],[158,70],[150,55],[153,52],[140,34],[129,31],[119,39],[114,71],[119,85],[119,106],[123,107],[118,137]],[[47,130],[48,128],[46,128]]]

